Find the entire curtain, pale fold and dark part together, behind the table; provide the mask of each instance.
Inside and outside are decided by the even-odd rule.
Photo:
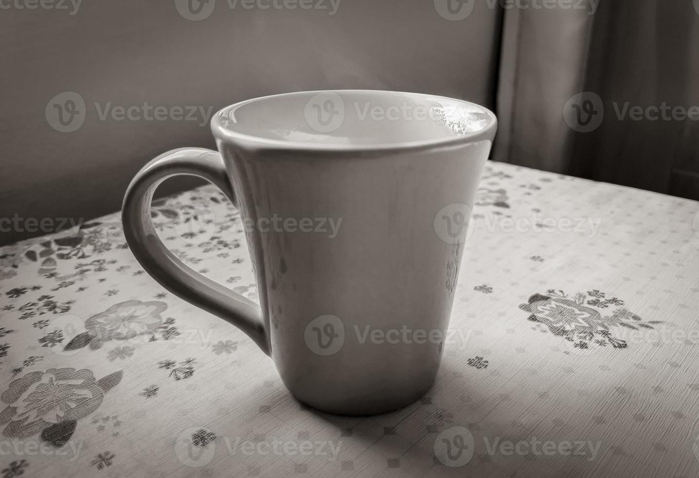
[[[699,0],[504,15],[493,159],[699,199]]]

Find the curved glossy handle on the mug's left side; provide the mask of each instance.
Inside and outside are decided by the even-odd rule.
[[[145,272],[161,286],[243,330],[270,356],[267,332],[257,304],[187,267],[168,251],[153,227],[150,203],[156,188],[167,178],[180,174],[206,179],[237,207],[233,185],[220,153],[204,148],[168,151],[146,164],[129,184],[122,207],[127,244]]]

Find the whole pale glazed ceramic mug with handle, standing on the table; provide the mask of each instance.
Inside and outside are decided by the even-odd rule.
[[[495,115],[445,97],[338,90],[243,101],[211,128],[218,152],[170,151],[129,185],[122,221],[143,269],[243,330],[310,407],[364,415],[419,399],[448,338]],[[210,181],[240,211],[259,306],[161,243],[150,203],[178,174]]]

